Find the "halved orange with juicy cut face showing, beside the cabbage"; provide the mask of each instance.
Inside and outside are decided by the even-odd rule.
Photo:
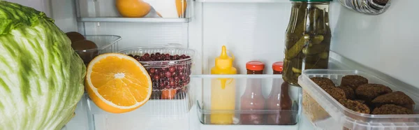
[[[144,105],[152,95],[152,80],[133,57],[98,55],[87,66],[87,94],[109,113],[126,113]]]

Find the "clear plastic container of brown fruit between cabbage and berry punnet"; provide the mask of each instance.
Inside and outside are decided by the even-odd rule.
[[[107,52],[117,52],[118,50],[118,41],[121,40],[121,36],[115,35],[87,35],[84,36],[86,40],[92,41],[95,43],[97,49],[89,50],[75,50],[78,55],[83,59],[84,64],[89,64],[91,59]]]

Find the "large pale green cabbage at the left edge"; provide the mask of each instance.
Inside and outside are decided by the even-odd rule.
[[[85,66],[52,19],[0,0],[0,129],[61,129],[84,93]]]

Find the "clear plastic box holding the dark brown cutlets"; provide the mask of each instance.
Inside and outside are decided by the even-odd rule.
[[[381,80],[379,76],[370,75],[362,71],[340,71],[330,69],[312,69],[302,72],[298,78],[298,84],[302,87],[302,108],[304,114],[317,129],[337,130],[407,130],[419,129],[419,115],[369,115],[357,113],[342,106],[321,87],[316,85],[310,78],[330,78],[339,85],[345,75],[361,75],[369,80],[369,83],[377,83],[390,87],[393,92],[401,91],[419,103],[419,89],[415,87],[395,86],[391,82]],[[419,108],[414,106],[414,113]]]

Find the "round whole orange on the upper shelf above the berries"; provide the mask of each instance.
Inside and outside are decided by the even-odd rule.
[[[116,0],[119,14],[123,17],[144,17],[152,6],[142,0]]]

